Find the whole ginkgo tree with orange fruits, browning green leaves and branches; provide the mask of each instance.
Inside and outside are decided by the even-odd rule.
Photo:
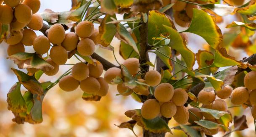
[[[248,128],[246,116],[234,116],[228,110],[232,107],[251,109],[256,119],[256,46],[251,42],[256,0],[72,0],[70,11],[42,13],[37,13],[40,0],[0,3],[1,41],[9,45],[7,59],[19,68],[11,68],[18,82],[7,94],[8,110],[18,124],[43,121],[43,99],[56,84],[68,92],[80,87],[87,101],[100,101],[108,84],[116,84],[116,95],[143,103],[141,109],[127,110],[124,115],[131,120],[118,127],[133,132],[137,124],[145,137],[164,137],[172,129],[200,137]],[[234,14],[239,20],[226,28],[240,33],[222,34],[217,23]],[[193,53],[185,32],[201,36],[207,48]],[[119,53],[125,60],[119,66],[95,53],[95,46],[114,51],[114,37],[121,40]],[[24,45],[35,52],[26,53]],[[230,45],[251,56],[235,60],[227,54]],[[156,55],[155,62],[149,53]],[[72,57],[77,63],[66,64]],[[39,82],[42,74],[53,76],[61,65],[71,67],[54,82]],[[179,126],[169,127],[170,119]]]

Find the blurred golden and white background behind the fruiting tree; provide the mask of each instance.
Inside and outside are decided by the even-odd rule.
[[[53,11],[68,11],[71,9],[71,0],[41,0],[41,8],[39,13],[43,12],[46,8],[50,8]],[[121,19],[122,16],[118,16]],[[225,26],[230,24],[232,21],[237,21],[237,16],[225,16],[224,21],[219,25],[222,29],[222,33],[230,31],[226,29]],[[177,29],[179,31],[184,30],[178,25]],[[98,25],[95,25],[97,28]],[[239,31],[231,33],[240,33]],[[37,32],[37,35],[42,34]],[[199,49],[206,49],[207,44],[205,40],[195,34],[187,34],[188,37],[188,47],[197,53]],[[251,47],[251,53],[246,53],[243,49],[228,47],[228,53],[235,56],[237,60],[242,60],[244,57],[251,55],[253,51],[256,51],[255,47],[255,34],[250,38],[254,47]],[[111,45],[115,47],[115,54],[120,63],[123,59],[119,55],[119,44],[120,41],[116,38],[112,41]],[[17,68],[12,61],[6,59],[7,57],[7,47],[5,42],[0,44],[0,137],[134,137],[134,134],[129,129],[119,129],[116,125],[121,124],[124,121],[129,121],[130,119],[124,115],[127,110],[141,108],[142,103],[135,101],[132,97],[116,96],[118,93],[116,91],[116,85],[110,85],[108,95],[102,97],[98,102],[84,101],[82,99],[82,90],[79,88],[73,92],[64,92],[58,85],[53,87],[46,95],[43,101],[43,119],[41,124],[28,124],[24,125],[16,124],[12,121],[13,114],[11,111],[7,110],[7,96],[11,86],[18,80],[16,76],[12,73],[11,67]],[[33,53],[32,47],[26,47],[26,52]],[[96,53],[107,58],[111,63],[117,65],[114,60],[113,53],[111,51],[100,49],[96,50]],[[154,62],[155,55],[150,54],[150,61]],[[71,58],[67,63],[77,63],[76,58]],[[194,68],[198,65],[195,64]],[[43,76],[40,82],[54,81],[61,76],[63,72],[71,66],[63,65],[60,67],[60,71],[55,76]],[[222,68],[223,69],[223,68]],[[22,92],[25,89],[22,88]],[[232,104],[227,100],[228,105]],[[248,121],[248,129],[241,132],[232,133],[232,137],[256,137],[254,131],[253,119],[251,116],[251,110],[249,108],[243,110],[243,108],[230,108],[229,109],[233,116],[241,116],[245,114]],[[172,119],[169,122],[169,126],[177,126],[178,124]],[[142,128],[135,125],[135,133],[138,136],[142,136]],[[166,134],[167,137],[185,137],[186,135],[182,131],[173,130],[172,134]],[[220,130],[216,137],[223,135]]]

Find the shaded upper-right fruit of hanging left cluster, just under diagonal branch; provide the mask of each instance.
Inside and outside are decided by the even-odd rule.
[[[95,61],[94,65],[88,63],[87,66],[89,68],[89,76],[98,78],[103,73],[103,65],[100,61]]]

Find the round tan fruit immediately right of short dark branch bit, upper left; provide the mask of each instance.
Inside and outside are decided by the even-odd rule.
[[[47,33],[47,37],[53,44],[61,44],[65,39],[65,29],[61,24],[54,24],[50,27]]]

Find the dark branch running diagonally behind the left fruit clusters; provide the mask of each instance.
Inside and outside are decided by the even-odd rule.
[[[40,29],[40,32],[42,32],[47,37],[47,30],[50,29],[50,27],[47,24],[43,24],[42,29]],[[116,65],[110,63],[106,59],[102,58],[100,55],[93,53],[91,55],[92,58],[96,59],[97,61],[100,61],[102,63],[104,70],[108,70],[108,68],[117,67]]]

